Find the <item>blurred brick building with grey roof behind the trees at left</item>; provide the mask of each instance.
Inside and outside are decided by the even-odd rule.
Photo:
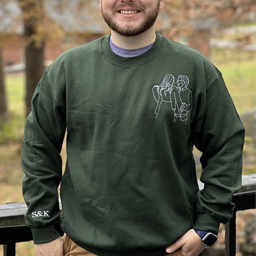
[[[103,36],[108,30],[100,20],[98,1],[90,2],[90,8],[79,9],[79,1],[66,1],[59,5],[58,0],[45,1],[44,9],[48,24],[62,30],[63,38],[55,41],[46,39],[44,59],[55,60],[58,55],[71,47],[83,44]],[[88,14],[88,12],[91,12]],[[0,42],[3,66],[24,63],[25,41],[23,39],[22,11],[17,1],[0,4],[0,33],[6,37]],[[50,21],[50,23],[49,23]]]

